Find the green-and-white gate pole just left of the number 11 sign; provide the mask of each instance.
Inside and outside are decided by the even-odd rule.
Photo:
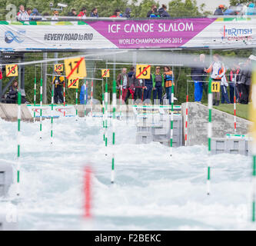
[[[212,111],[212,92],[211,92],[211,82],[212,79],[209,79],[208,84],[208,168],[207,168],[207,194],[210,194],[210,185],[211,185],[211,137],[212,137],[212,124],[211,124],[211,111]]]

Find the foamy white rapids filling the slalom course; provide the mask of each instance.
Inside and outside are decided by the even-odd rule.
[[[21,197],[17,200],[13,184],[8,198],[0,198],[0,206],[17,208],[19,229],[254,229],[250,157],[212,156],[208,196],[206,147],[175,148],[170,158],[170,148],[157,142],[135,145],[134,122],[118,121],[116,128],[111,184],[113,147],[105,148],[100,118],[56,119],[54,145],[50,120],[43,121],[42,140],[38,122],[22,122]],[[0,119],[0,132],[0,163],[15,167],[17,123]],[[82,219],[85,165],[93,170],[89,221]]]

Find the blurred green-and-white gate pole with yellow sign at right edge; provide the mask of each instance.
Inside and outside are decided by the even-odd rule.
[[[251,106],[250,120],[252,121],[252,178],[251,178],[251,196],[252,196],[252,214],[251,221],[255,222],[255,203],[256,203],[256,62],[253,64],[252,80],[251,80]]]

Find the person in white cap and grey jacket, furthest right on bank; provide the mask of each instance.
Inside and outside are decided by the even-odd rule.
[[[241,104],[248,105],[250,86],[251,86],[251,61],[256,61],[256,56],[250,55],[247,62],[245,62],[244,68],[241,71]]]

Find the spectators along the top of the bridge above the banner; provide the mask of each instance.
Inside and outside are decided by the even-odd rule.
[[[214,15],[256,15],[256,8],[253,2],[248,5],[238,4],[236,6],[229,6],[228,8],[224,5],[219,5],[215,10]],[[38,12],[37,8],[26,8],[24,5],[19,6],[19,11],[17,14],[17,20],[21,22],[30,22],[30,21],[41,21],[46,20],[46,16],[51,16],[52,20],[58,20],[59,12],[55,10],[52,14],[45,12],[41,15]],[[79,12],[75,8],[71,8],[71,12],[68,12],[68,17],[74,17],[78,19],[84,19],[87,17],[98,18],[98,9],[92,8],[91,12],[87,12],[85,7],[81,7]],[[113,15],[108,16],[110,18],[131,18],[131,8],[126,8],[125,12],[122,13],[120,8],[116,8],[113,12]],[[151,10],[148,11],[146,18],[169,18],[171,15],[167,11],[166,5],[161,5],[160,8],[157,5],[151,5]]]

